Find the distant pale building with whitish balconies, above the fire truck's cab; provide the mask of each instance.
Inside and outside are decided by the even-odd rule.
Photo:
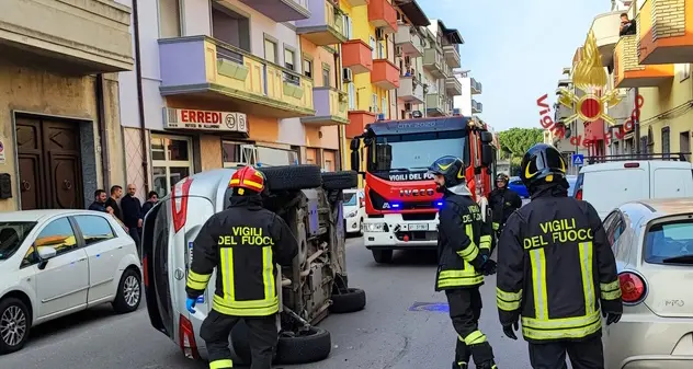
[[[431,20],[424,42],[425,114],[432,117],[451,115],[453,97],[462,93],[453,69],[461,67],[459,45],[464,39],[457,30],[447,28],[441,20]]]

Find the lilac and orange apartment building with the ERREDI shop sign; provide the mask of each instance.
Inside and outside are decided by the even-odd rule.
[[[333,2],[158,0],[135,10],[139,68],[121,74],[121,114],[127,182],[140,195],[239,164],[340,166],[345,114],[330,45],[345,37]]]

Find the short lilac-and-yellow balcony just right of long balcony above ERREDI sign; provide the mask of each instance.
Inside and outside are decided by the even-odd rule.
[[[346,105],[349,97],[342,91],[332,88],[314,88],[313,103],[315,116],[300,118],[300,123],[311,126],[334,126],[348,124]]]

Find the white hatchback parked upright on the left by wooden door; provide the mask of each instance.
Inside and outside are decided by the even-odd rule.
[[[135,242],[109,214],[0,212],[0,355],[63,315],[106,302],[137,310],[140,276]]]

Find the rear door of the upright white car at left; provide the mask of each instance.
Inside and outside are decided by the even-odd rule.
[[[115,293],[115,276],[123,258],[123,240],[116,237],[111,223],[100,215],[72,217],[84,242],[89,258],[89,295],[87,301],[99,303]]]

